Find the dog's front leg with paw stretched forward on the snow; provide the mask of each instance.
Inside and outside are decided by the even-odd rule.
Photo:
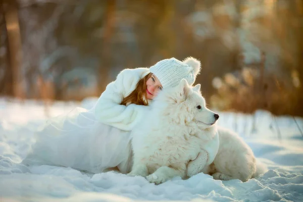
[[[162,166],[158,168],[153,174],[148,175],[146,179],[150,183],[154,182],[155,184],[160,184],[176,176],[180,176],[181,178],[184,178],[185,175],[186,175],[185,166],[184,169],[175,169],[168,166]]]

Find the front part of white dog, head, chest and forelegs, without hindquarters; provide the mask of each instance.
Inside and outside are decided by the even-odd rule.
[[[183,79],[178,86],[163,90],[132,131],[134,156],[128,175],[159,184],[175,176],[184,179],[196,174],[210,165],[218,152],[218,118],[206,108],[199,84],[192,88]],[[198,154],[198,161],[188,164]]]

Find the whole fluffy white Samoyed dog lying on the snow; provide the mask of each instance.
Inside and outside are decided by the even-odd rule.
[[[186,80],[159,93],[145,118],[132,131],[133,166],[130,176],[163,183],[199,172],[214,179],[257,177],[265,167],[236,133],[216,126],[219,115],[205,106],[200,85]]]

